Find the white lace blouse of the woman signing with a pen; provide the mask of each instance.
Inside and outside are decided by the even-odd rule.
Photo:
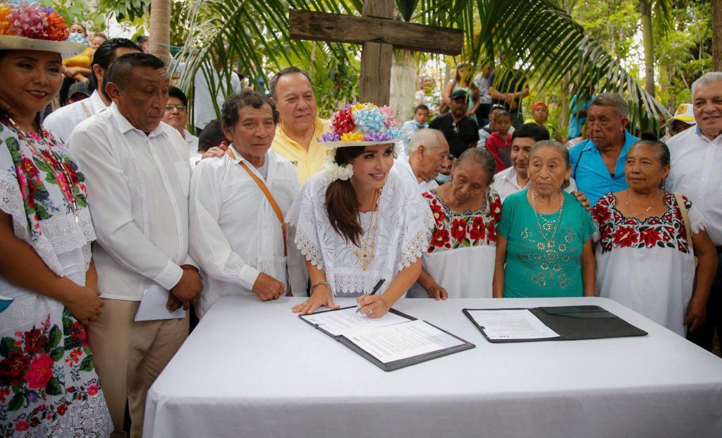
[[[419,194],[418,185],[389,173],[378,201],[373,259],[363,270],[355,254],[361,249],[336,233],[329,222],[326,212],[329,182],[323,172],[312,176],[292,205],[286,221],[296,227],[295,244],[308,262],[326,272],[334,296],[370,293],[381,278],[386,280],[379,289],[383,293],[396,274],[416,262],[428,248],[434,226],[431,210]],[[371,212],[359,216],[365,239]]]

